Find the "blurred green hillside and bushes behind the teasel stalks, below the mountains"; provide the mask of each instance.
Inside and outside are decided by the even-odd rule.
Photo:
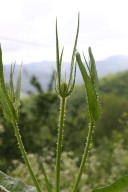
[[[40,87],[40,86],[39,86]],[[40,87],[41,88],[41,87]],[[128,71],[100,80],[102,117],[94,131],[93,148],[80,187],[91,191],[127,173],[128,157]],[[41,90],[41,89],[40,89]],[[62,163],[62,192],[73,185],[83,153],[88,117],[85,116],[84,86],[76,86],[67,101]],[[54,92],[39,91],[22,98],[20,132],[33,167],[42,182],[37,156],[45,162],[49,178],[54,177],[59,99]],[[0,109],[0,169],[31,184],[18,151],[10,124]],[[90,182],[91,181],[91,182]],[[84,184],[86,183],[86,185]],[[42,183],[42,185],[44,185]],[[81,192],[82,192],[81,191]]]

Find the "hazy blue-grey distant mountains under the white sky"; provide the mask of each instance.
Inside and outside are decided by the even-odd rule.
[[[63,63],[62,71],[67,71],[69,74],[70,63]],[[96,61],[97,71],[99,77],[106,76],[108,74],[115,74],[117,72],[128,70],[128,56],[116,55],[109,57],[103,61]],[[42,61],[37,63],[30,63],[23,65],[23,76],[22,76],[22,88],[23,91],[35,91],[34,87],[30,85],[30,78],[35,75],[41,83],[44,90],[47,89],[48,83],[50,82],[51,74],[55,70],[55,62]],[[18,73],[19,65],[16,65],[14,81]],[[4,65],[5,81],[9,79],[10,65]],[[76,83],[82,83],[82,78],[79,69],[77,69]]]

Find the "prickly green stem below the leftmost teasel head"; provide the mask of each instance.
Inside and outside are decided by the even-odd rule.
[[[37,189],[37,192],[41,192],[41,188],[39,186],[39,183],[33,173],[33,170],[31,168],[31,165],[29,163],[29,160],[27,158],[27,155],[26,155],[26,151],[25,151],[25,148],[24,148],[24,145],[23,145],[23,142],[22,142],[22,139],[21,139],[21,135],[20,135],[20,132],[19,132],[19,128],[18,128],[18,125],[17,123],[13,123],[13,127],[14,127],[14,131],[15,131],[15,135],[16,135],[16,138],[17,138],[17,141],[18,141],[18,145],[19,145],[19,148],[20,148],[20,151],[21,151],[21,154],[22,154],[22,157],[24,159],[24,162],[26,164],[26,167],[28,168],[28,171],[29,171],[29,174],[33,180],[33,183]]]

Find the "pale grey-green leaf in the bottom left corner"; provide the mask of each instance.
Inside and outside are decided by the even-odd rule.
[[[36,192],[36,188],[26,185],[20,179],[11,178],[0,171],[0,189],[4,192]]]

